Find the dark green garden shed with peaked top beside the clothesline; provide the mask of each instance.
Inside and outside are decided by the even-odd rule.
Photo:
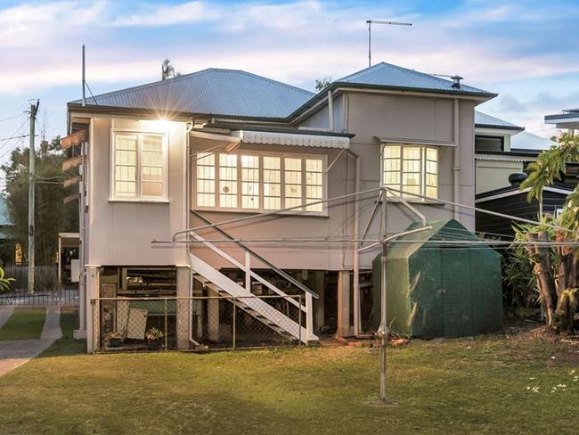
[[[459,337],[502,331],[501,257],[454,219],[391,242],[387,250],[387,322],[404,336]],[[419,227],[412,224],[408,229]],[[379,324],[380,255],[372,262]]]

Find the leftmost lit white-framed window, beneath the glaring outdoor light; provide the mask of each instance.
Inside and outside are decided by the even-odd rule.
[[[114,131],[111,198],[167,201],[167,136]]]

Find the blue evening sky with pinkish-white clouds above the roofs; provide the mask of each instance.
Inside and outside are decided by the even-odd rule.
[[[372,61],[461,75],[499,96],[480,111],[549,136],[546,114],[579,106],[579,2],[575,0],[35,1],[0,0],[0,162],[26,144],[25,111],[40,100],[37,130],[66,134],[66,103],[81,95],[81,45],[94,94],[181,73],[248,70],[314,90]],[[38,137],[40,140],[41,137]]]

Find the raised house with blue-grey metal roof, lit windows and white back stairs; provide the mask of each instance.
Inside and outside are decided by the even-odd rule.
[[[474,230],[472,212],[439,200],[474,206],[475,107],[494,96],[379,63],[318,94],[208,69],[69,103],[69,132],[88,131],[80,325],[88,350],[99,340],[94,298],[247,296],[257,282],[306,300],[302,331],[282,313],[242,308],[268,316],[274,331],[301,341],[332,323],[338,335],[360,332],[360,307],[371,300],[360,288],[377,251],[348,240],[378,237],[380,185],[426,197],[405,199],[428,220],[454,217]],[[366,191],[355,201],[352,193]],[[345,199],[324,202],[336,197]],[[416,217],[391,200],[388,231],[402,231]],[[186,228],[197,230],[151,243]],[[314,306],[305,289],[319,295]],[[191,345],[191,324],[176,319],[179,349]]]

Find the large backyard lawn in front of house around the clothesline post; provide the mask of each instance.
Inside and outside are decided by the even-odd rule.
[[[492,337],[390,348],[388,397],[398,403],[377,407],[371,349],[88,356],[70,338],[74,316],[63,314],[65,337],[52,349],[0,378],[0,432],[576,433],[572,344]]]

